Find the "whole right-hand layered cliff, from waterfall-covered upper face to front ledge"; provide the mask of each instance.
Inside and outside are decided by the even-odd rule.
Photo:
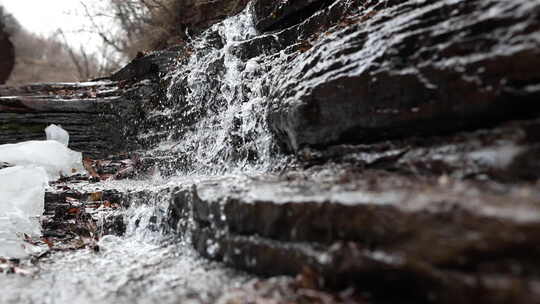
[[[252,4],[199,36],[169,112],[151,112],[170,126],[146,134],[174,139],[162,155],[188,171],[272,167],[276,151],[312,168],[181,190],[172,227],[264,275],[311,269],[327,287],[420,302],[535,302],[536,275],[510,269],[536,268],[540,5]]]

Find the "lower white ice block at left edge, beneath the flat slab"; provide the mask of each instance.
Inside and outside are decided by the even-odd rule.
[[[0,170],[0,256],[27,256],[21,235],[39,236],[44,211],[45,169],[15,166]],[[28,244],[27,244],[28,245]]]

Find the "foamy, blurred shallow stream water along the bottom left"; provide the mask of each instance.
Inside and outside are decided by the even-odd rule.
[[[33,276],[0,275],[0,302],[208,303],[250,279],[181,244],[109,236],[100,245],[51,254]]]

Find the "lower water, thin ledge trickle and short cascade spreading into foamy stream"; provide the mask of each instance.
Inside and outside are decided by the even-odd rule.
[[[119,191],[146,191],[125,210],[123,237],[100,238],[92,249],[52,252],[26,275],[0,274],[0,303],[208,303],[251,276],[202,259],[181,238],[167,235],[166,189],[188,187],[191,178],[105,182],[84,185]],[[161,193],[160,193],[161,191]]]

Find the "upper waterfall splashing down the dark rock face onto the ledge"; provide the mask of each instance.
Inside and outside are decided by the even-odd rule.
[[[153,113],[160,143],[151,153],[175,154],[174,174],[259,172],[276,162],[265,118],[273,59],[237,52],[257,35],[247,8],[192,40],[167,76],[167,98]]]

